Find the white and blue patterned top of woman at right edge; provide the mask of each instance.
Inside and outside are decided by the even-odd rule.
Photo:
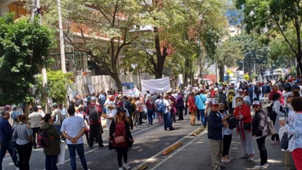
[[[302,113],[297,113],[293,117],[291,125],[286,124],[285,128],[288,136],[294,135],[288,142],[290,152],[302,148]]]

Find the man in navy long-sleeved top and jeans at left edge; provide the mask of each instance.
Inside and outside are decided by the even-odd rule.
[[[12,135],[14,132],[14,129],[12,129],[12,126],[8,122],[10,115],[8,111],[3,111],[1,115],[2,118],[0,119],[0,170],[2,170],[2,161],[6,154],[6,150],[8,150],[10,156],[12,157],[16,169],[19,170],[17,155],[14,155],[13,149],[8,147],[8,144],[12,141]]]

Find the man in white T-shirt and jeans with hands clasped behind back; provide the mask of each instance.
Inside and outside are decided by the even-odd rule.
[[[69,107],[67,112],[70,117],[66,118],[61,127],[61,133],[66,139],[69,150],[70,164],[72,169],[76,169],[76,151],[81,159],[84,170],[87,168],[87,161],[84,153],[83,134],[86,131],[86,124],[83,118],[75,116],[75,108]]]

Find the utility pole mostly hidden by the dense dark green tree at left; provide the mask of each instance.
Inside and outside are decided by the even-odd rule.
[[[40,13],[40,0],[33,0],[31,20],[35,19],[35,14],[39,16],[39,23],[41,24],[41,13]],[[45,57],[45,56],[44,56]],[[42,88],[43,88],[43,100],[45,102],[45,113],[49,113],[48,106],[48,93],[47,93],[47,73],[45,66],[42,67]]]

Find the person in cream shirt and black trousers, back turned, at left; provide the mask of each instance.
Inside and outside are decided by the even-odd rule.
[[[34,112],[29,114],[28,118],[31,121],[33,148],[37,149],[36,133],[38,133],[38,131],[40,130],[41,120],[42,120],[43,117],[38,112],[38,107],[37,106],[34,106],[32,109],[34,110]]]

